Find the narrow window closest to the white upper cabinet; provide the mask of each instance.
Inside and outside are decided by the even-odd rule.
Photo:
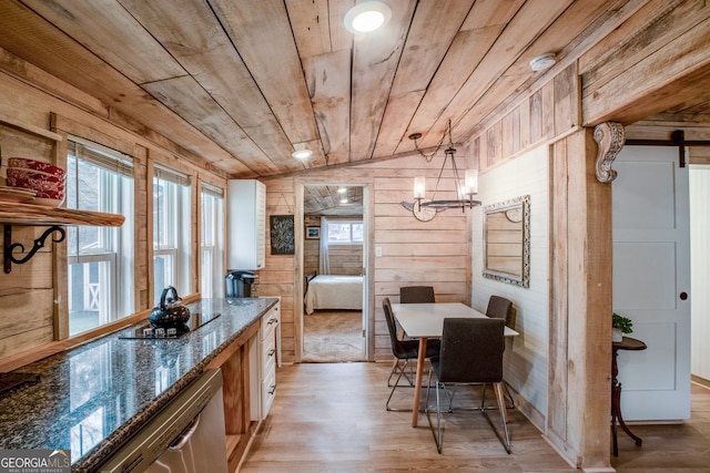
[[[202,185],[202,297],[223,297],[224,191]]]

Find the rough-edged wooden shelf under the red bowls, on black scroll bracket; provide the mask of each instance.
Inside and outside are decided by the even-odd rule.
[[[6,225],[94,225],[120,227],[124,220],[125,217],[118,214],[0,202],[0,224]]]

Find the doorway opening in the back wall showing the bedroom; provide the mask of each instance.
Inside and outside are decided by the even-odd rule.
[[[366,186],[303,187],[302,362],[367,360]]]

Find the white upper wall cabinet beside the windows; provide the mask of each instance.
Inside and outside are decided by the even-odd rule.
[[[227,269],[266,264],[266,186],[255,179],[227,181]]]

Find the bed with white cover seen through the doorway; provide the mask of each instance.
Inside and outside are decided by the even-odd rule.
[[[363,277],[317,275],[307,279],[306,313],[316,309],[363,310]]]

